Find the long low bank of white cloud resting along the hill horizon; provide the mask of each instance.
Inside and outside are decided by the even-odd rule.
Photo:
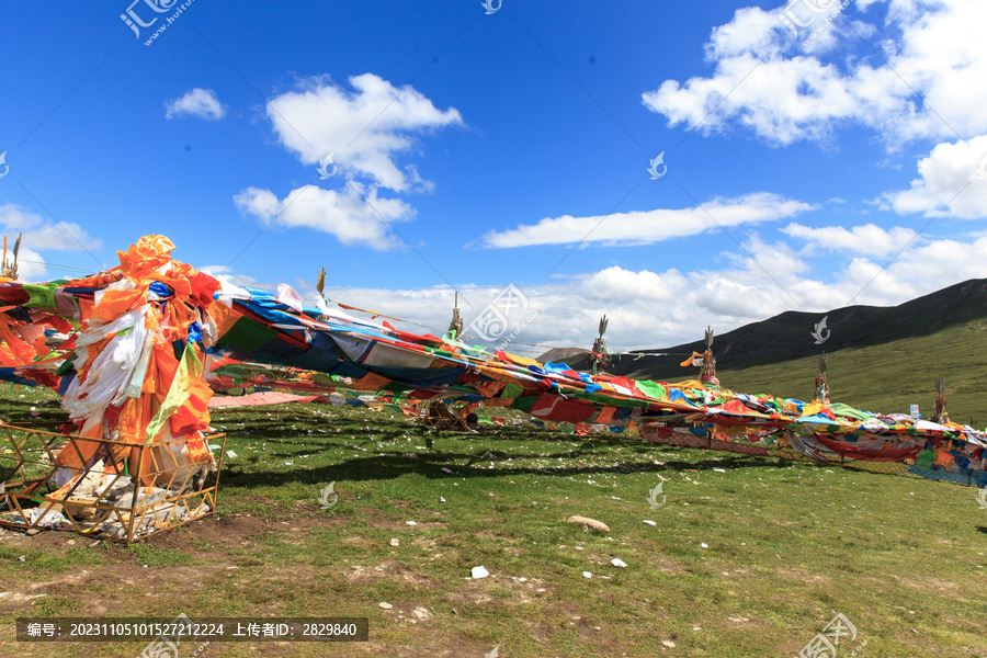
[[[847,230],[849,236],[873,231],[866,226]],[[892,239],[899,236],[896,229],[885,232]],[[543,353],[547,347],[589,349],[599,318],[605,313],[611,319],[606,330],[611,350],[665,348],[702,338],[707,325],[723,333],[785,310],[821,313],[853,304],[892,306],[971,277],[987,276],[987,237],[972,242],[919,239],[889,265],[876,254],[852,249],[838,250],[837,256],[828,251],[796,252],[803,238],[792,238],[796,245],[748,238],[745,250],[753,259],[742,252],[729,252],[723,254],[728,265],[719,269],[634,271],[611,266],[565,281],[515,281],[527,307],[510,311],[500,338],[523,326],[507,351],[530,356]],[[829,238],[827,232],[812,234],[812,239]],[[830,242],[839,243],[840,239]],[[847,254],[841,258],[840,253]],[[770,275],[758,263],[764,264]],[[825,279],[813,276],[810,272],[818,263],[835,269]],[[466,332],[474,336],[467,342],[481,342],[469,325],[509,283],[458,286]],[[304,285],[296,290],[305,299],[314,294]],[[416,333],[445,331],[453,306],[453,290],[449,286],[327,287],[326,295],[415,322],[401,328]],[[810,326],[805,328],[806,340],[810,330]],[[683,370],[683,376],[688,374]]]

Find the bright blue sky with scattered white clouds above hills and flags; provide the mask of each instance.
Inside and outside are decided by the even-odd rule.
[[[453,290],[469,325],[513,285],[487,333],[521,353],[602,313],[639,349],[987,276],[983,2],[489,8],[4,5],[22,276],[162,234],[440,329]]]

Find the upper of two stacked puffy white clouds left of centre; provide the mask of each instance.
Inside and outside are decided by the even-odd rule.
[[[405,192],[428,189],[417,170],[399,169],[398,154],[411,150],[413,136],[463,125],[455,107],[442,111],[412,87],[394,87],[373,73],[349,79],[351,90],[327,77],[308,78],[300,89],[268,103],[277,139],[302,162],[319,162],[330,152],[347,175]]]

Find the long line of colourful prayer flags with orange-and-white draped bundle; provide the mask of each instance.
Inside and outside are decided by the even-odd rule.
[[[120,266],[93,276],[0,280],[0,378],[58,390],[73,432],[118,441],[121,456],[172,436],[202,453],[212,361],[214,382],[227,384],[256,379],[264,366],[288,368],[291,376],[266,381],[300,393],[349,387],[467,408],[483,402],[576,427],[635,423],[659,442],[761,446],[762,454],[878,470],[893,463],[987,486],[987,434],[967,426],[744,395],[708,382],[591,376],[359,319],[321,297],[307,307],[287,285],[273,294],[220,284],[171,260],[173,248],[148,236],[117,252]]]

